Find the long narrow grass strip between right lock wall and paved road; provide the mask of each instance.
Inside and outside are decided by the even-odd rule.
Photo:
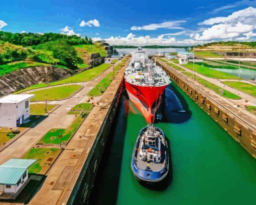
[[[190,73],[190,72],[182,72],[183,74],[189,76],[190,78],[193,78],[193,73]],[[195,76],[195,79],[202,85],[204,85],[205,87],[213,90],[215,93],[219,94],[219,95],[222,95],[220,92],[219,92],[219,89],[222,89],[221,87],[215,85],[215,84],[212,84],[211,82],[207,81],[207,80],[204,80],[198,76]],[[239,100],[241,99],[240,96],[238,95],[235,95],[227,90],[223,90],[223,97],[225,98],[229,98],[229,99],[233,99],[233,100]]]

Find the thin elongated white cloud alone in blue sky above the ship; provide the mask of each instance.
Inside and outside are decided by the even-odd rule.
[[[131,27],[132,31],[140,31],[140,30],[157,30],[157,29],[184,29],[180,27],[180,25],[186,23],[185,20],[180,20],[180,21],[172,21],[172,22],[163,22],[160,24],[149,24],[146,26],[133,26]]]

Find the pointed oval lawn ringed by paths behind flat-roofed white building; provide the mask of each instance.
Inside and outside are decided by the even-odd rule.
[[[31,92],[35,97],[31,101],[44,101],[47,100],[63,100],[74,95],[83,86],[81,85],[65,85],[60,87],[48,88]]]

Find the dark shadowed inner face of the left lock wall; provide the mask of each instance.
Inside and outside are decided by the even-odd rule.
[[[86,204],[90,191],[93,186],[94,178],[97,173],[97,168],[103,154],[105,144],[107,141],[107,136],[109,134],[118,104],[120,93],[122,91],[123,82],[120,84],[115,96],[117,96],[108,109],[108,112],[104,118],[102,126],[97,134],[97,137],[94,141],[94,144],[91,148],[90,154],[87,157],[87,160],[84,164],[84,167],[80,173],[79,178],[77,179],[76,185],[71,193],[71,196],[67,204]],[[101,108],[103,109],[103,108]]]

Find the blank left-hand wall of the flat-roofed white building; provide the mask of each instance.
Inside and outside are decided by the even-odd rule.
[[[0,103],[0,127],[16,127],[16,104]]]

